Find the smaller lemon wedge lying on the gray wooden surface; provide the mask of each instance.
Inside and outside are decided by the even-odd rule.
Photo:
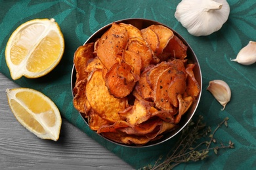
[[[6,93],[9,106],[22,126],[41,139],[58,140],[62,119],[49,97],[30,88],[7,89]]]

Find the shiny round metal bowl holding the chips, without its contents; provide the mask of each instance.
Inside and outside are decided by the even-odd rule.
[[[133,18],[133,19],[125,19],[125,20],[118,20],[116,21],[116,23],[120,23],[123,22],[125,24],[132,24],[135,27],[137,27],[138,29],[143,29],[146,28],[150,25],[164,25],[161,24],[160,22],[156,22],[154,20],[146,20],[146,19],[142,19],[142,18]],[[87,41],[85,41],[85,44],[89,43],[89,42],[95,42],[96,39],[100,38],[102,36],[102,34],[104,32],[106,32],[110,27],[111,27],[112,23],[105,25],[104,27],[98,29],[98,31],[96,31],[93,35],[91,35],[91,37],[89,37],[89,39],[87,39]],[[168,27],[167,25],[164,25],[165,27]],[[170,27],[168,27],[169,29],[171,29]],[[177,135],[177,133],[179,133],[185,126],[186,124],[188,124],[188,122],[191,120],[192,116],[194,115],[194,113],[196,112],[196,109],[198,107],[199,101],[200,101],[200,97],[201,97],[201,93],[202,93],[202,73],[201,73],[201,69],[200,69],[200,64],[198,62],[198,59],[196,58],[196,54],[194,54],[192,48],[190,47],[190,45],[183,39],[183,37],[181,37],[181,35],[179,35],[179,33],[177,33],[176,31],[174,31],[173,29],[171,29],[173,31],[173,33],[179,37],[179,39],[181,39],[181,41],[186,44],[186,46],[188,46],[187,49],[187,58],[189,63],[196,63],[196,66],[194,67],[193,71],[194,71],[194,75],[196,80],[198,81],[198,84],[200,85],[200,94],[198,95],[198,98],[196,99],[196,101],[194,101],[194,103],[192,104],[192,106],[190,107],[190,109],[182,116],[181,118],[181,122],[179,122],[179,127],[177,127],[175,130],[170,131],[165,133],[165,135],[163,135],[163,137],[161,139],[158,139],[156,141],[151,141],[149,143],[144,144],[143,146],[131,146],[131,145],[127,145],[127,144],[120,144],[120,143],[116,143],[114,141],[111,141],[110,139],[107,139],[106,137],[103,137],[102,135],[100,135],[101,137],[103,137],[104,139],[111,141],[112,143],[116,143],[119,144],[121,146],[128,146],[128,147],[135,147],[135,148],[141,148],[141,147],[147,147],[147,146],[154,146],[156,144],[160,144],[163,143],[171,138],[173,138],[175,135]],[[71,88],[72,88],[72,93],[73,93],[73,89],[75,86],[75,80],[76,80],[76,71],[75,71],[75,67],[73,66],[72,69],[72,76],[71,76]],[[73,93],[73,97],[74,97],[74,93]],[[83,117],[83,115],[80,113],[80,115]],[[88,121],[86,118],[83,117],[83,119],[85,120],[85,123],[88,125]]]

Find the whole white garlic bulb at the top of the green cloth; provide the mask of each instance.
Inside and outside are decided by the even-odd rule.
[[[210,35],[228,20],[230,7],[226,0],[182,0],[175,18],[194,36]]]

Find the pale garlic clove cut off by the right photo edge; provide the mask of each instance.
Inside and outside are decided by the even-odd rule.
[[[231,59],[231,61],[236,61],[242,65],[251,65],[256,62],[256,42],[249,41],[247,46],[242,48],[238,52],[236,59]]]

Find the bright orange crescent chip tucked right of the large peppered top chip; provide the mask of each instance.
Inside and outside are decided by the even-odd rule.
[[[150,46],[146,44],[146,41],[139,37],[133,37],[129,39],[126,49],[135,52],[140,56],[141,69],[147,67],[148,65],[150,65],[150,63],[158,63],[159,61],[158,58],[154,58],[154,54]]]

